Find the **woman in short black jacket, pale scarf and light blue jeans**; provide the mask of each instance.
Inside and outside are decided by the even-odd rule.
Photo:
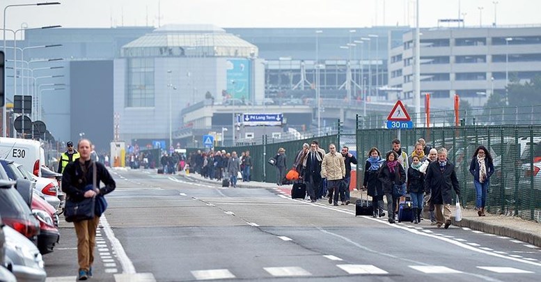
[[[414,224],[421,223],[423,211],[423,193],[425,191],[425,175],[419,171],[421,160],[418,156],[411,158],[411,166],[407,170],[407,193],[411,196],[414,210]]]

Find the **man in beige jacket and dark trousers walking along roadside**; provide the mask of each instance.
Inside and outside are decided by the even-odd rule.
[[[321,162],[321,175],[323,178],[327,178],[327,187],[334,192],[333,205],[338,205],[340,184],[345,178],[345,164],[342,155],[336,152],[334,144],[329,145],[329,151]]]

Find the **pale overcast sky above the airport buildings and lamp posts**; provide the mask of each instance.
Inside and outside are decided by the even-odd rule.
[[[49,0],[51,1],[51,0]],[[214,24],[220,27],[414,26],[414,0],[58,0],[61,5],[10,7],[7,28]],[[465,13],[466,26],[494,22],[494,0],[419,0],[421,26]],[[1,1],[8,4],[38,0]],[[541,0],[497,0],[498,25],[541,24]],[[158,5],[160,3],[160,5]],[[460,3],[460,5],[459,5]],[[158,13],[160,6],[161,13]],[[483,7],[480,10],[478,7]],[[408,13],[409,11],[409,13]],[[481,13],[480,13],[481,12]]]

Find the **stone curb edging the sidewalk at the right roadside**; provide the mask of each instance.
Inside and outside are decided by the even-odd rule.
[[[357,197],[351,197],[350,201],[355,203]],[[528,242],[528,244],[533,244],[534,246],[541,247],[541,235],[530,233],[523,230],[513,229],[505,226],[497,226],[494,224],[487,224],[483,221],[476,221],[471,219],[462,219],[461,221],[455,221],[455,217],[451,217],[453,221],[453,226],[458,227],[467,227],[471,230],[478,230],[484,233],[490,233],[499,236],[506,236],[522,242]]]

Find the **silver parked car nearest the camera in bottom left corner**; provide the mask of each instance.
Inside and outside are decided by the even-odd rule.
[[[6,260],[11,265],[17,281],[45,281],[47,279],[45,264],[36,245],[8,225],[2,229],[6,235],[4,244]]]

